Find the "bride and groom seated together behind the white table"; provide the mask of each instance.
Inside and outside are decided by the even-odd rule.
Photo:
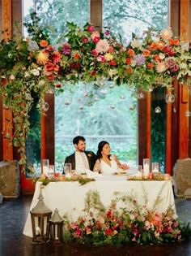
[[[65,163],[71,163],[71,168],[76,172],[84,170],[98,171],[99,173],[112,173],[118,168],[127,170],[126,164],[121,164],[115,154],[110,154],[110,146],[107,141],[100,141],[97,155],[92,151],[86,151],[86,139],[82,136],[74,137],[74,154],[66,157]]]

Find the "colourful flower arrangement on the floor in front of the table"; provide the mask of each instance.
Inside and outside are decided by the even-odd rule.
[[[189,223],[181,223],[168,209],[159,213],[140,205],[132,195],[112,200],[108,210],[100,202],[99,193],[89,191],[85,199],[85,217],[79,216],[74,222],[65,221],[64,241],[80,244],[114,245],[163,244],[180,242],[189,238]],[[159,198],[158,198],[159,199]],[[117,210],[121,200],[128,207]]]

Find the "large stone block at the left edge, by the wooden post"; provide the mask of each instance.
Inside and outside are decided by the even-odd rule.
[[[0,193],[5,199],[19,197],[20,173],[18,161],[0,162]]]

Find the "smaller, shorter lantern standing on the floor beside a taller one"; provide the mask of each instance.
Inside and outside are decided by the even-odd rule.
[[[62,242],[63,222],[64,219],[59,215],[58,210],[55,209],[53,216],[49,219],[49,242]]]

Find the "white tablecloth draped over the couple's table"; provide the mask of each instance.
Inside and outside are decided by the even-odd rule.
[[[133,193],[138,202],[144,204],[145,194],[148,195],[147,208],[153,208],[156,198],[160,195],[163,199],[157,206],[157,211],[165,212],[169,207],[175,210],[174,196],[172,192],[172,183],[170,180],[163,181],[139,181],[126,180],[126,176],[100,176],[96,181],[91,181],[81,185],[77,181],[72,182],[50,182],[42,189],[45,205],[50,210],[59,210],[59,214],[68,214],[70,219],[76,220],[83,215],[84,198],[87,192],[92,189],[100,193],[100,200],[104,206],[109,206],[114,198],[115,192]],[[32,199],[32,209],[38,202],[40,194],[40,182],[36,182],[36,190]],[[32,236],[31,215],[28,213],[28,219],[25,223],[23,234]]]

